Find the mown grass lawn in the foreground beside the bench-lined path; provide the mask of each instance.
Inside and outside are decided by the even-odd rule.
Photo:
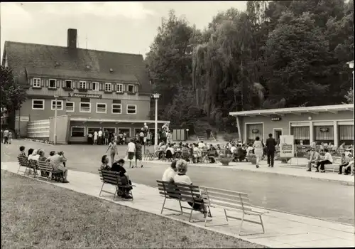
[[[1,248],[265,248],[1,170]]]

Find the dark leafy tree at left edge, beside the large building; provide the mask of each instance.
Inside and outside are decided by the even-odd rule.
[[[20,109],[26,100],[26,90],[15,80],[10,68],[1,65],[0,81],[1,108],[6,109],[8,113]]]

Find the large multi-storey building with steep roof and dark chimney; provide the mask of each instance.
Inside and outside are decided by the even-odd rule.
[[[23,137],[52,140],[55,97],[58,142],[85,142],[100,128],[132,137],[144,122],[154,126],[142,55],[77,48],[77,30],[68,29],[66,47],[6,41],[2,65],[27,88],[13,124]]]

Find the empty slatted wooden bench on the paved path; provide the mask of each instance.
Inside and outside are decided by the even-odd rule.
[[[263,226],[263,219],[261,218],[261,216],[264,213],[268,213],[268,212],[261,213],[261,212],[253,211],[248,194],[237,192],[237,191],[224,190],[224,189],[214,189],[209,187],[201,187],[201,191],[204,193],[204,195],[207,196],[209,207],[224,209],[224,216],[226,217],[227,223],[222,225],[228,225],[228,218],[232,218],[236,220],[241,220],[241,226],[239,227],[239,235],[242,235],[241,228],[243,226],[244,221],[261,225],[261,227],[263,228],[263,233],[265,233],[264,226]],[[242,216],[241,218],[229,216],[226,211],[241,211]],[[258,216],[260,222],[247,220],[245,219],[245,216]],[[204,224],[204,226],[206,226],[206,223]],[[261,233],[244,234],[244,235],[255,235],[255,234],[261,234]]]

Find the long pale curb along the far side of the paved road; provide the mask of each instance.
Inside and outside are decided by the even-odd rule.
[[[154,164],[165,164],[165,165],[169,165],[168,162],[165,161],[146,161],[143,160],[144,162],[151,162]],[[335,182],[335,183],[339,183],[339,184],[343,184],[346,186],[354,186],[355,183],[353,181],[346,181],[346,180],[334,180],[334,179],[324,179],[324,178],[318,178],[318,177],[312,177],[312,176],[297,176],[297,175],[293,175],[293,174],[283,174],[283,173],[279,173],[279,172],[268,172],[268,171],[256,171],[255,169],[239,169],[239,168],[232,168],[231,166],[222,166],[222,165],[217,165],[217,164],[213,164],[212,166],[205,166],[205,165],[201,165],[201,164],[189,164],[189,166],[193,166],[193,167],[209,167],[209,168],[222,168],[222,169],[231,169],[231,170],[235,170],[235,171],[249,171],[249,172],[253,172],[253,173],[265,173],[265,174],[276,174],[279,176],[291,176],[291,177],[300,177],[300,178],[304,178],[304,179],[315,179],[315,180],[319,180],[319,181],[329,181],[329,182]],[[280,168],[285,168],[285,166],[279,166]]]

